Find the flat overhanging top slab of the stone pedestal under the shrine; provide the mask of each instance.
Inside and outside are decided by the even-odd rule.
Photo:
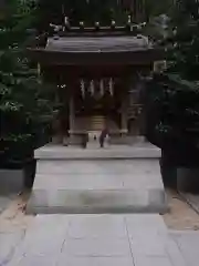
[[[100,149],[94,145],[90,149],[81,149],[78,146],[65,147],[61,145],[49,144],[35,150],[35,158],[65,158],[65,160],[85,160],[85,158],[159,158],[161,152],[158,147],[149,143],[137,143],[129,145],[111,145]]]

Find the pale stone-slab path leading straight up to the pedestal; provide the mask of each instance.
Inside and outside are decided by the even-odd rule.
[[[187,264],[180,247],[157,214],[39,215],[8,265],[112,264],[197,265]]]

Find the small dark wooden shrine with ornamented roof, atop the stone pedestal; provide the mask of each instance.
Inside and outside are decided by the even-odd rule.
[[[107,27],[96,21],[72,27],[70,18],[51,24],[51,31],[29,49],[48,80],[54,83],[63,105],[56,135],[63,144],[78,144],[85,134],[97,140],[107,129],[112,143],[130,143],[144,135],[142,94],[154,62],[163,58],[148,37],[145,22],[115,20]]]

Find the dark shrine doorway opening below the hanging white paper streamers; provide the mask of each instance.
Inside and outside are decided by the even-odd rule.
[[[75,129],[88,132],[102,132],[104,127],[119,131],[121,100],[116,94],[88,94],[82,98],[80,92],[73,99],[75,105]]]

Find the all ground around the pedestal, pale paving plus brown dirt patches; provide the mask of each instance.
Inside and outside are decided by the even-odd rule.
[[[168,235],[164,233],[166,226],[163,221],[151,216],[150,221],[142,216],[136,222],[136,218],[124,215],[114,215],[115,221],[104,215],[97,218],[86,215],[84,218],[75,218],[75,223],[74,216],[48,216],[48,219],[44,216],[27,216],[23,211],[29,195],[19,196],[0,215],[0,265],[53,265],[54,258],[50,259],[50,250],[61,246],[55,266],[198,266],[199,232],[188,229],[199,228],[199,215],[175,192],[167,193],[171,207],[171,212],[164,215],[166,224],[171,228]],[[96,219],[98,222],[94,223]],[[86,249],[85,242],[88,242],[91,248]],[[160,243],[157,245],[157,242]],[[75,254],[71,249],[74,245]],[[133,255],[129,255],[129,250]],[[71,255],[66,256],[69,253]]]

